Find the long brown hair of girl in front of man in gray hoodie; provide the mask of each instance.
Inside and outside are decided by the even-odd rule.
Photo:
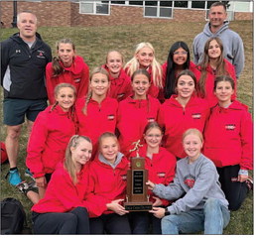
[[[201,74],[200,78],[198,81],[198,92],[202,97],[205,97],[205,81],[206,81],[206,76],[207,76],[207,66],[209,63],[209,57],[208,57],[208,50],[209,50],[209,44],[215,40],[220,48],[221,55],[219,56],[217,63],[216,63],[216,72],[215,75],[229,75],[228,71],[226,70],[226,63],[224,61],[224,56],[223,56],[223,44],[221,40],[217,37],[212,37],[209,38],[205,45],[204,45],[204,52],[203,52],[203,58],[202,61],[199,63]]]

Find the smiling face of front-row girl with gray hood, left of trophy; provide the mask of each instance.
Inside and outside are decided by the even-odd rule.
[[[119,152],[119,144],[115,137],[105,137],[100,141],[99,146],[100,153],[102,156],[111,164],[116,160]]]

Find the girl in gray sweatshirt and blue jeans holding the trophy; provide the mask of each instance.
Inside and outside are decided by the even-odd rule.
[[[162,219],[163,234],[222,234],[230,219],[228,202],[220,188],[214,164],[204,157],[201,133],[189,129],[183,145],[188,157],[178,161],[174,182],[168,186],[148,181],[149,189],[165,199],[175,200],[166,209],[154,207],[151,212]]]

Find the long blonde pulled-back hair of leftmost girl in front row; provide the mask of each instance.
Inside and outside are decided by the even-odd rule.
[[[74,135],[70,138],[64,154],[64,169],[67,171],[74,184],[77,182],[77,176],[75,170],[75,163],[72,160],[71,147],[76,148],[82,140],[85,140],[92,144],[91,140],[88,137]]]

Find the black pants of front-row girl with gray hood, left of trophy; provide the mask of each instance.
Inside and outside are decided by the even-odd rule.
[[[127,215],[103,214],[89,219],[90,234],[131,234]]]

